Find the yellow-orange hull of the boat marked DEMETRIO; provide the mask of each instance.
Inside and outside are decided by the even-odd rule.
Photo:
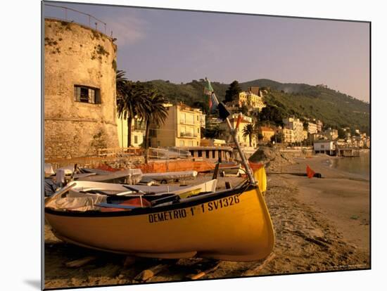
[[[128,212],[46,209],[54,234],[68,243],[139,257],[208,257],[253,261],[274,247],[274,231],[258,188],[229,190],[194,202]]]

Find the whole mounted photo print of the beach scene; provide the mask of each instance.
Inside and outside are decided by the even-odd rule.
[[[371,268],[370,22],[42,8],[45,290]]]

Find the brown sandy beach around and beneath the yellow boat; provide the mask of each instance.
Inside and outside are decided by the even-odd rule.
[[[215,264],[218,268],[201,279],[368,269],[369,181],[332,169],[332,159],[336,157],[318,155],[295,159],[281,167],[268,167],[265,200],[276,235],[275,257],[259,273],[257,266],[262,261],[137,259],[134,264],[128,264],[124,256],[63,243],[45,225],[45,287],[190,280],[190,276]],[[278,174],[305,173],[306,164],[321,173],[323,179]],[[210,175],[200,175],[194,183],[206,179],[210,179]],[[225,181],[235,186],[241,178],[220,177],[218,185],[224,188]],[[94,260],[84,266],[65,266],[69,261],[88,256]],[[136,278],[141,271],[154,266],[160,266],[162,271],[145,281]]]

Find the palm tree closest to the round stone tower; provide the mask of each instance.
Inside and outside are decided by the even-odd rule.
[[[148,107],[144,87],[139,82],[122,82],[117,98],[118,118],[127,119],[127,146],[132,146],[132,119],[144,118]]]

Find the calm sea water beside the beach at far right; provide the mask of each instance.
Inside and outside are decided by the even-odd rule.
[[[369,180],[369,150],[361,151],[360,157],[340,157],[334,159],[332,162],[332,167],[335,169],[357,174],[362,176],[362,178]]]

